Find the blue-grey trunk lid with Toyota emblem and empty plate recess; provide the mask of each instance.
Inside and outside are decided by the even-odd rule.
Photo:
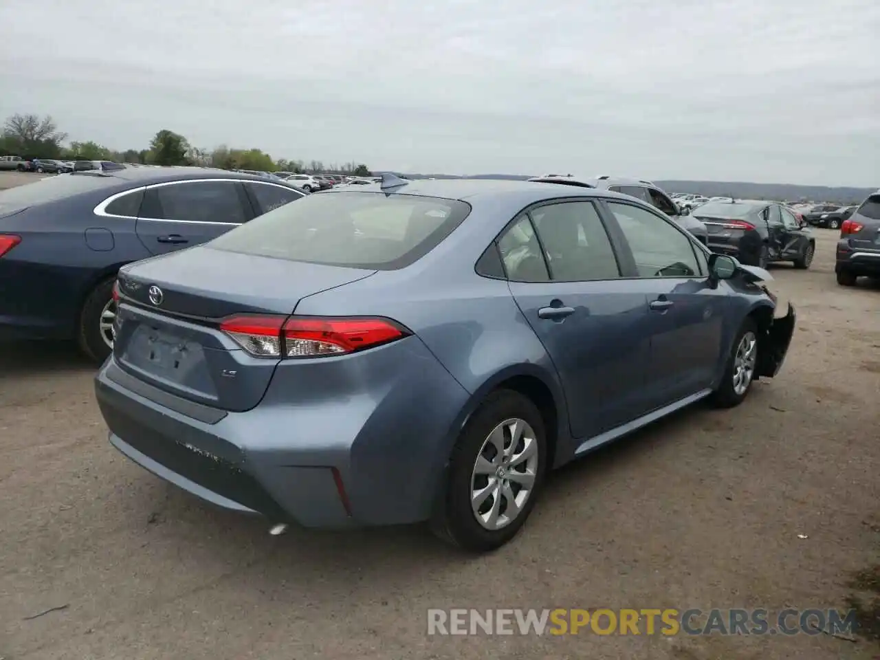
[[[114,359],[150,385],[223,410],[256,406],[278,358],[254,357],[220,330],[234,314],[289,316],[300,299],[375,271],[199,246],[123,268]]]

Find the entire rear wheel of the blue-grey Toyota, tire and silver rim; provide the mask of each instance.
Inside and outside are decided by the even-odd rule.
[[[546,471],[538,408],[519,392],[490,394],[452,450],[444,502],[432,522],[441,539],[488,552],[516,536]]]

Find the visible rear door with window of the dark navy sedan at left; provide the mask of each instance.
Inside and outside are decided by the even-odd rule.
[[[253,217],[240,180],[204,179],[147,187],[137,237],[152,254],[197,246]]]

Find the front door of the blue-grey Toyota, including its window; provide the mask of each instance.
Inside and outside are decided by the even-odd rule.
[[[709,282],[706,253],[659,212],[616,200],[605,200],[604,210],[632,253],[636,272],[627,287],[648,299],[649,409],[706,393],[722,355],[726,299]]]

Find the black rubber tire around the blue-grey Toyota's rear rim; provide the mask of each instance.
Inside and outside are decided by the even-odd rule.
[[[532,493],[523,509],[501,529],[488,530],[477,522],[471,507],[473,467],[489,433],[510,418],[527,422],[534,431],[538,466]],[[431,529],[440,539],[469,552],[485,553],[513,539],[538,501],[546,474],[546,436],[538,408],[519,392],[498,390],[488,395],[467,422],[452,450],[444,498],[431,520]]]

